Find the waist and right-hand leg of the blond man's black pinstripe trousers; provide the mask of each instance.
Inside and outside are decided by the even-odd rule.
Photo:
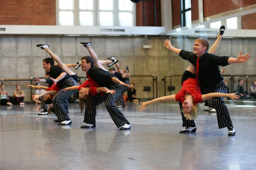
[[[228,87],[226,84],[222,81],[216,86],[210,87],[210,88],[201,88],[202,94],[208,94],[208,93],[227,93]],[[219,125],[219,129],[225,128],[225,127],[233,127],[232,121],[230,119],[229,110],[227,106],[224,103],[224,97],[214,97],[211,99],[212,107],[216,109],[217,113],[217,121]]]

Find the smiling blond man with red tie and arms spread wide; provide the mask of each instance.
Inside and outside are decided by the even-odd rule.
[[[196,69],[196,79],[198,80],[197,83],[200,82],[201,84],[202,94],[208,94],[211,92],[227,93],[227,86],[223,82],[223,77],[220,75],[219,65],[226,66],[229,64],[244,63],[250,58],[250,54],[241,55],[242,51],[237,58],[231,58],[228,56],[219,57],[214,54],[209,54],[207,50],[210,43],[204,38],[196,39],[193,52],[187,52],[185,50],[172,47],[170,39],[165,40],[164,46],[168,50],[179,55],[182,59],[188,60],[194,65]],[[230,119],[228,108],[224,104],[224,97],[213,98],[211,100],[213,107],[216,109],[219,129],[228,127],[228,135],[235,135],[235,129]],[[190,127],[187,127],[187,130],[190,131]]]

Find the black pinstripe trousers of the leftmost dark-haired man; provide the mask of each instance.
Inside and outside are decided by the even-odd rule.
[[[66,110],[68,108],[67,100],[70,96],[76,93],[77,90],[68,90],[66,92],[63,92],[62,90],[71,86],[77,86],[77,82],[74,79],[67,79],[62,83],[61,90],[52,98],[52,104],[59,121],[70,120]]]

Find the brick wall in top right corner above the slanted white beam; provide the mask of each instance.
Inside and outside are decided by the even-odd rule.
[[[204,0],[204,17],[256,4],[256,0]]]

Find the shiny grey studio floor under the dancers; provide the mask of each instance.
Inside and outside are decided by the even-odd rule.
[[[131,130],[120,131],[104,105],[97,126],[81,129],[83,115],[69,105],[72,125],[58,126],[54,114],[38,116],[33,104],[0,107],[0,169],[256,169],[256,106],[228,105],[236,130],[218,129],[215,113],[201,111],[196,133],[179,134],[178,103],[122,112]],[[201,105],[201,110],[205,106]]]

